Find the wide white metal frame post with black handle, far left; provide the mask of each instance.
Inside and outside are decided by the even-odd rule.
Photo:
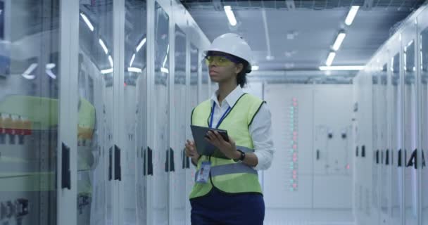
[[[58,134],[58,217],[57,224],[77,224],[77,113],[73,113],[73,105],[77,105],[77,64],[79,41],[79,2],[61,0],[60,2],[60,104],[59,104],[59,134]],[[70,85],[72,84],[72,85]],[[77,111],[76,111],[77,112]],[[70,146],[71,189],[61,188],[61,143]],[[70,217],[70,215],[72,215]]]

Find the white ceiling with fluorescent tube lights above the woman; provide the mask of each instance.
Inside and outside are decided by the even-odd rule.
[[[318,70],[320,65],[325,65],[336,34],[341,29],[347,35],[333,65],[365,65],[388,39],[391,27],[408,16],[422,1],[307,0],[294,1],[294,10],[287,8],[286,1],[182,0],[182,4],[210,41],[220,34],[237,32],[250,44],[260,70],[272,71]],[[360,4],[362,8],[348,27],[344,25],[344,20],[353,4]],[[372,7],[367,8],[363,4],[371,4]],[[225,5],[232,5],[239,21],[236,27],[229,25],[222,10]],[[294,36],[294,39],[287,36]],[[274,56],[273,60],[266,59],[270,54]]]

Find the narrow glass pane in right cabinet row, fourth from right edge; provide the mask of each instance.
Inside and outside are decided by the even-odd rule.
[[[388,149],[388,140],[387,140],[387,134],[388,131],[388,117],[386,116],[386,109],[388,107],[387,101],[388,101],[388,94],[386,92],[387,85],[388,85],[388,71],[387,71],[388,65],[384,64],[381,68],[381,71],[379,72],[379,89],[378,89],[378,102],[377,107],[379,109],[378,115],[379,115],[379,135],[378,135],[378,143],[379,148],[381,148],[384,151],[384,157],[382,158],[382,171],[381,171],[381,177],[382,180],[380,181],[380,207],[383,214],[388,214],[389,210],[389,182],[390,182],[390,162],[391,162],[391,153]],[[381,155],[382,156],[382,155]]]

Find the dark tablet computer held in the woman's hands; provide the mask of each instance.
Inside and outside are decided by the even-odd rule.
[[[209,143],[205,137],[208,131],[218,131],[218,133],[225,139],[225,141],[229,141],[229,136],[227,135],[227,131],[224,129],[214,129],[209,127],[199,127],[199,126],[190,126],[191,134],[193,135],[193,139],[195,141],[196,150],[198,150],[199,155],[212,155],[217,158],[227,158],[225,154],[223,154],[217,147],[213,146]]]

